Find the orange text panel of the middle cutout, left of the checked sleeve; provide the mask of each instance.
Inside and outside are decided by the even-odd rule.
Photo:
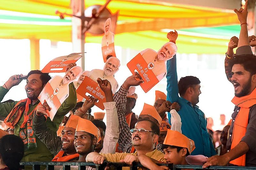
[[[88,76],[84,78],[76,92],[81,95],[83,98],[89,100],[89,97],[86,95],[88,93],[90,96],[97,97],[98,102],[95,103],[95,105],[100,108],[101,110],[104,110],[105,107],[103,103],[106,102],[105,94],[100,89],[98,83],[96,81],[93,81]]]

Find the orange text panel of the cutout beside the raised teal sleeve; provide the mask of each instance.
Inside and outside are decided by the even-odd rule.
[[[140,76],[144,80],[144,82],[141,83],[140,86],[145,93],[147,93],[159,82],[156,75],[151,70],[154,66],[152,66],[151,63],[147,63],[140,53],[127,63],[127,67],[133,74],[135,71],[140,74]]]

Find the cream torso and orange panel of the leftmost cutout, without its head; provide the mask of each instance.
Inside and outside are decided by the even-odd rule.
[[[58,75],[51,78],[38,96],[38,99],[42,104],[46,102],[49,105],[50,111],[47,110],[47,113],[49,113],[51,121],[53,120],[58,108],[69,96],[68,84],[66,86],[59,86],[62,79],[63,77]]]

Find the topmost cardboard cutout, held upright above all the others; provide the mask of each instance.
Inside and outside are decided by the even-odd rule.
[[[108,18],[105,22],[104,36],[101,40],[101,49],[104,62],[107,61],[107,56],[116,56],[114,47],[114,28],[111,27],[111,18]]]

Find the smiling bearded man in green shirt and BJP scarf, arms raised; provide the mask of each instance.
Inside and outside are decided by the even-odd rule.
[[[74,65],[75,64],[69,64],[66,71]],[[0,87],[0,101],[4,98],[4,95],[8,90],[22,81],[20,76],[21,75],[14,75],[10,77],[10,79],[4,83],[3,87]],[[50,161],[53,158],[51,152],[40,141],[40,139],[35,136],[35,133],[32,130],[32,119],[35,114],[34,111],[40,102],[37,97],[49,80],[49,74],[42,73],[39,70],[30,71],[27,75],[27,84],[25,86],[27,99],[19,102],[0,104],[0,116],[6,117],[4,120],[5,124],[11,128],[15,128],[14,134],[23,139],[25,153],[22,161]],[[74,108],[76,104],[75,94],[74,84],[70,83],[69,97],[58,109],[53,121],[50,119],[46,120],[45,123],[47,126],[50,129],[53,129],[55,133],[64,115]],[[25,112],[26,114],[24,114]]]

